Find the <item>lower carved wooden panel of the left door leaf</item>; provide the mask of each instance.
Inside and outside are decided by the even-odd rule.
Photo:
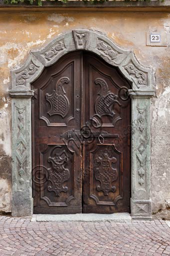
[[[74,157],[66,145],[48,144],[40,152],[40,163],[47,172],[40,196],[49,206],[68,205],[74,199]]]

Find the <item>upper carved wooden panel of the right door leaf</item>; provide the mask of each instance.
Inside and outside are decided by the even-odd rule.
[[[119,72],[115,75],[116,70],[111,68],[108,69],[108,73],[105,72],[101,63],[93,58],[87,59],[85,68],[89,73],[85,79],[89,79],[89,92],[86,94],[89,93],[90,120],[93,120],[97,126],[122,126],[124,122],[122,109],[128,105],[127,100],[122,98],[127,99],[129,85],[121,79]]]

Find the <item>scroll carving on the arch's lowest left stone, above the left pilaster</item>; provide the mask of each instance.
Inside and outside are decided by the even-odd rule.
[[[39,66],[35,65],[31,61],[28,68],[25,68],[16,76],[16,86],[24,85],[25,81],[29,79],[38,70],[38,67]]]

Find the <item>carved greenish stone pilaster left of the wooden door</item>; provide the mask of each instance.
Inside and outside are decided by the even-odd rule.
[[[12,91],[10,95],[12,95]],[[32,214],[31,96],[12,97],[12,216]],[[28,97],[29,94],[29,97]]]

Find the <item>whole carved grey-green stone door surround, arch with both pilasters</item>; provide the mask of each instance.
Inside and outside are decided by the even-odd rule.
[[[116,45],[99,31],[76,29],[54,38],[45,47],[30,51],[25,63],[11,71],[12,97],[12,215],[32,214],[31,90],[46,66],[75,50],[96,53],[117,66],[132,81],[132,197],[133,218],[151,219],[150,199],[150,97],[152,70],[137,61],[132,51]]]

